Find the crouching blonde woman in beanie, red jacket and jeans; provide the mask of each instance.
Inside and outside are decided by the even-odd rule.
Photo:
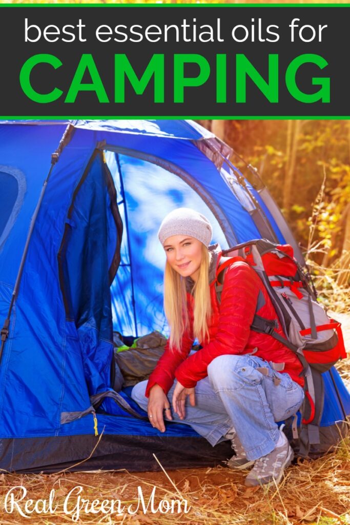
[[[253,466],[246,486],[278,483],[293,452],[275,422],[293,415],[303,401],[302,366],[282,343],[250,329],[254,314],[277,314],[245,260],[228,266],[218,304],[221,251],[209,246],[211,235],[208,219],[189,208],[175,209],[161,224],[171,335],[149,381],[137,384],[132,397],[161,432],[165,417],[192,426],[213,446],[231,439],[236,455],[228,465]],[[277,331],[285,337],[280,326]],[[190,352],[195,338],[202,348]]]

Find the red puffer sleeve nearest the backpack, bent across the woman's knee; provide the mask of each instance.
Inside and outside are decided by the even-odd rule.
[[[208,365],[219,355],[243,353],[258,295],[259,277],[246,262],[234,262],[227,268],[215,339],[177,367],[175,376],[183,386],[194,387],[197,381],[206,377]]]

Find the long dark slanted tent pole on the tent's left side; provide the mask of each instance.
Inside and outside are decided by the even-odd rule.
[[[73,130],[74,130],[74,126],[72,124],[68,124],[67,128],[66,128],[65,132],[63,133],[62,138],[61,138],[61,140],[60,140],[60,142],[58,144],[57,150],[54,153],[52,153],[52,155],[51,155],[50,170],[49,170],[49,173],[48,173],[48,175],[47,175],[47,177],[45,179],[45,182],[43,184],[43,188],[41,188],[41,193],[40,193],[40,197],[39,197],[38,203],[37,203],[36,208],[34,210],[34,214],[33,214],[33,216],[31,217],[31,220],[30,220],[29,232],[28,232],[28,235],[27,235],[26,244],[24,246],[22,258],[20,260],[20,265],[19,265],[19,269],[18,269],[18,273],[17,273],[17,277],[16,277],[15,287],[14,287],[14,290],[12,292],[12,298],[11,298],[10,306],[9,306],[9,309],[8,309],[7,318],[5,319],[4,326],[3,326],[3,328],[2,328],[2,330],[0,332],[1,333],[0,363],[1,363],[1,360],[2,360],[2,356],[3,356],[3,350],[4,350],[5,342],[7,340],[8,334],[9,334],[10,317],[11,317],[11,313],[12,313],[12,309],[13,309],[13,305],[14,305],[15,299],[17,298],[17,295],[18,295],[18,290],[19,290],[19,286],[20,286],[20,280],[22,279],[23,268],[24,268],[24,264],[25,264],[25,261],[26,261],[28,247],[29,247],[31,235],[33,234],[36,218],[38,216],[41,203],[43,202],[45,190],[46,190],[46,187],[47,187],[47,183],[49,182],[49,178],[51,176],[51,172],[54,169],[55,164],[58,162],[59,156],[62,153],[63,148],[70,141]]]

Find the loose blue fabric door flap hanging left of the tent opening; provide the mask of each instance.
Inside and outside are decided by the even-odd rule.
[[[110,384],[113,359],[110,285],[120,263],[123,224],[103,153],[80,177],[58,252],[66,322],[76,327],[90,396]]]

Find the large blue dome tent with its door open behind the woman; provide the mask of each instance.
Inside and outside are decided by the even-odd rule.
[[[84,469],[228,457],[227,442],[212,448],[185,425],[161,435],[115,394],[113,328],[167,331],[156,232],[172,208],[203,212],[222,248],[266,237],[303,264],[267,188],[192,121],[2,121],[0,137],[0,468],[74,465],[102,432]],[[323,425],[350,413],[336,371],[326,391]]]

